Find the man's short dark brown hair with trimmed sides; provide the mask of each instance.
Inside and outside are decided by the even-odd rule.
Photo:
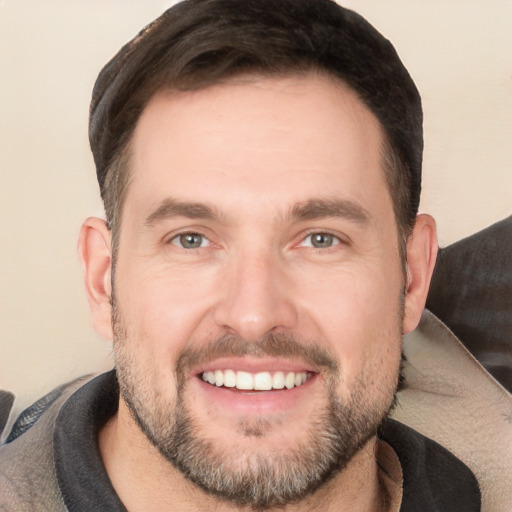
[[[130,179],[129,142],[153,94],[247,73],[308,72],[348,84],[383,126],[383,167],[403,252],[421,189],[420,96],[391,43],[332,0],[185,0],[103,68],[93,91],[89,138],[114,244]]]

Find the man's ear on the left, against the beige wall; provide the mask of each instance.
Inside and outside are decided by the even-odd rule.
[[[98,334],[108,340],[112,339],[111,238],[106,222],[91,217],[83,223],[78,239],[78,257],[92,323]]]

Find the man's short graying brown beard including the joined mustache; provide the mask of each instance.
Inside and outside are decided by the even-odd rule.
[[[147,372],[137,366],[135,354],[123,322],[114,308],[114,351],[120,394],[137,425],[163,457],[187,479],[222,501],[267,510],[296,503],[314,493],[347,466],[354,455],[373,438],[393,407],[393,389],[386,399],[368,403],[367,378],[361,376],[351,398],[344,403],[336,394],[339,382],[337,363],[323,349],[305,346],[289,336],[267,336],[258,343],[225,337],[206,350],[187,351],[176,365],[174,400],[154,390]],[[230,453],[201,435],[201,425],[187,406],[187,370],[200,361],[223,355],[300,355],[321,366],[326,384],[326,400],[302,441],[286,453],[262,453],[256,448],[272,424],[269,421],[240,421],[240,433],[253,437],[250,453],[235,449]],[[173,403],[174,402],[174,403]],[[293,428],[292,426],[288,426]],[[304,428],[304,425],[300,425]]]

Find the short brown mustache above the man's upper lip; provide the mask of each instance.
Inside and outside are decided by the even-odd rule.
[[[247,341],[235,334],[220,336],[201,348],[183,350],[176,362],[178,381],[188,372],[223,357],[286,357],[300,359],[321,371],[335,373],[339,366],[325,347],[315,342],[299,342],[289,334],[269,333],[258,341]]]

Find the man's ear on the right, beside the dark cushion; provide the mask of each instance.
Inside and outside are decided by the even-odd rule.
[[[407,283],[403,333],[418,325],[437,257],[436,223],[430,215],[418,215],[407,242]]]

